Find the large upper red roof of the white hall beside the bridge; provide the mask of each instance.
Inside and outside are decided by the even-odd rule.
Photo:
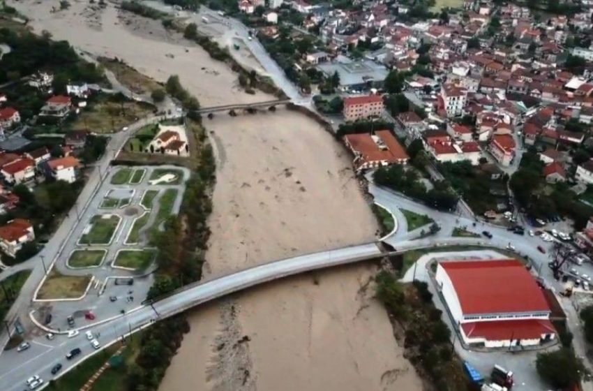
[[[550,311],[541,288],[518,260],[468,260],[440,265],[453,283],[464,315]]]

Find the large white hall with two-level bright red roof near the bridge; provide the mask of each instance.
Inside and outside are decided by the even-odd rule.
[[[534,346],[555,338],[546,297],[520,261],[444,261],[435,278],[465,344]]]

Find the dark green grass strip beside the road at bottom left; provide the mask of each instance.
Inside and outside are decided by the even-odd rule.
[[[113,344],[109,348],[106,348],[103,351],[100,351],[93,357],[90,357],[89,360],[84,360],[79,365],[77,365],[76,369],[68,372],[64,376],[61,376],[57,381],[53,384],[50,383],[50,386],[45,388],[47,391],[79,391],[82,386],[87,383],[89,378],[95,374],[96,371],[100,367],[109,360],[109,358],[117,351],[119,344]],[[127,350],[128,348],[126,348]],[[110,391],[119,391],[125,390],[126,383],[122,381],[120,388],[98,388],[98,382],[93,385],[93,390],[110,390]]]

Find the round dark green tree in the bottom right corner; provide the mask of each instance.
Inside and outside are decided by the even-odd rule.
[[[535,366],[539,376],[553,388],[571,388],[587,373],[583,361],[568,348],[539,353]]]

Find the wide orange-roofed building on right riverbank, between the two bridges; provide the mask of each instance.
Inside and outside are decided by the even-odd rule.
[[[357,133],[344,136],[344,142],[354,154],[356,170],[382,165],[405,164],[410,156],[390,131],[377,131],[375,135]]]

